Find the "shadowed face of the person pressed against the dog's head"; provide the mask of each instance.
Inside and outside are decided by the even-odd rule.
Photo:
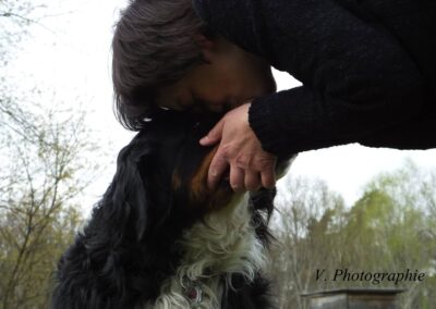
[[[222,112],[276,91],[269,64],[219,38],[203,45],[207,63],[158,91],[158,104],[172,109]]]

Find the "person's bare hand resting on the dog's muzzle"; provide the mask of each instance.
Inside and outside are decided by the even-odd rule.
[[[276,184],[275,166],[277,158],[262,149],[262,144],[250,127],[250,103],[228,112],[199,140],[203,146],[211,146],[220,140],[211,160],[207,185],[214,189],[230,165],[230,186],[235,191],[257,190]]]

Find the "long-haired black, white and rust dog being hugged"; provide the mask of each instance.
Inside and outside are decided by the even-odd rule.
[[[159,111],[59,262],[52,308],[275,308],[262,274],[275,190],[209,190],[217,115]],[[281,164],[284,165],[284,164]]]

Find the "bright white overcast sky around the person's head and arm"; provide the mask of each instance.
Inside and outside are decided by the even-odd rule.
[[[114,172],[120,148],[133,137],[114,120],[110,79],[110,42],[113,24],[126,1],[46,1],[47,15],[31,27],[9,65],[8,78],[26,91],[35,86],[52,89],[57,99],[72,104],[83,102],[89,112],[95,138],[108,141],[105,153],[96,153],[108,168],[87,190],[86,203],[96,202]],[[278,89],[299,85],[287,73],[275,71]],[[47,103],[51,103],[48,99]],[[400,151],[365,148],[353,144],[300,153],[287,177],[324,180],[351,206],[363,186],[380,172],[402,166],[411,159],[423,169],[436,169],[436,150]]]

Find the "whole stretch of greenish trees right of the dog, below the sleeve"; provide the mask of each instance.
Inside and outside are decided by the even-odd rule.
[[[405,288],[401,308],[431,308],[436,299],[436,171],[403,169],[380,174],[349,209],[320,182],[293,180],[277,200],[279,244],[270,273],[280,308],[306,308],[304,292],[340,287]],[[313,196],[324,198],[313,198]],[[298,227],[298,228],[296,228]],[[298,231],[298,233],[295,233]],[[349,272],[425,273],[423,282],[332,280]],[[320,270],[325,277],[316,277]]]

